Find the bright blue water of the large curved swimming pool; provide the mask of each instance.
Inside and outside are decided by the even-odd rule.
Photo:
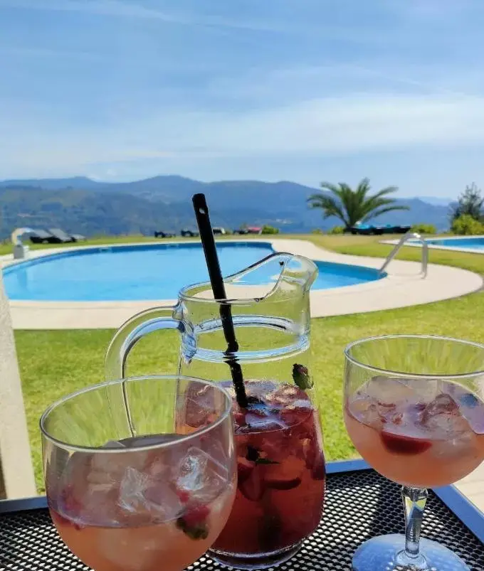
[[[264,242],[219,243],[220,264],[233,274],[273,252]],[[379,279],[367,267],[316,262],[313,289],[329,289]],[[175,299],[179,289],[206,282],[201,245],[160,244],[97,247],[33,258],[7,267],[10,299],[43,301],[134,301]]]

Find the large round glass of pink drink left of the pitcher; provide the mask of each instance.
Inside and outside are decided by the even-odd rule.
[[[223,529],[236,463],[220,386],[165,375],[110,381],[48,407],[41,430],[53,523],[95,571],[181,571]]]

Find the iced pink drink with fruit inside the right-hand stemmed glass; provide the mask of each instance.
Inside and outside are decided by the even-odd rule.
[[[448,381],[374,377],[344,422],[362,457],[405,486],[446,486],[484,460],[484,403]]]

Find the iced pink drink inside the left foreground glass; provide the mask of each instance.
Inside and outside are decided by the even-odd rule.
[[[140,444],[126,439],[107,447],[129,448],[133,441]],[[61,538],[95,571],[179,571],[191,565],[220,533],[234,493],[235,482],[213,444],[201,436],[185,447],[76,452],[58,484],[48,486]]]

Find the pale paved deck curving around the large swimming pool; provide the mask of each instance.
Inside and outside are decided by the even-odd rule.
[[[240,239],[237,241],[240,242]],[[383,258],[349,256],[330,252],[307,240],[270,238],[275,251],[293,252],[312,260],[366,266],[379,269]],[[173,242],[173,240],[171,240]],[[159,245],[160,242],[153,242]],[[167,242],[162,242],[167,243]],[[147,245],[147,242],[144,242]],[[87,246],[88,247],[88,246]],[[97,246],[102,247],[102,246]],[[106,245],[106,247],[115,247]],[[76,249],[83,250],[85,247]],[[63,248],[33,250],[30,257],[62,252]],[[65,249],[67,250],[67,248]],[[69,248],[73,250],[73,248]],[[0,265],[11,265],[12,255],[0,257]],[[419,262],[393,260],[387,276],[373,282],[311,292],[312,317],[325,317],[427,304],[460,297],[483,287],[483,279],[455,267],[428,265],[423,279]],[[11,301],[15,329],[115,329],[130,316],[156,305],[170,305],[175,299],[157,301]]]

